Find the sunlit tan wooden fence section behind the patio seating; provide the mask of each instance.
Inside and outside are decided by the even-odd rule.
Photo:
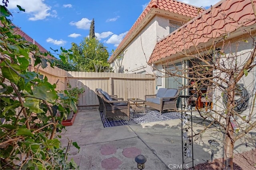
[[[66,83],[72,87],[84,87],[86,90],[80,96],[79,108],[97,108],[98,98],[96,88],[116,94],[118,98],[141,98],[145,94],[155,94],[155,77],[145,74],[123,74],[113,72],[68,72]]]

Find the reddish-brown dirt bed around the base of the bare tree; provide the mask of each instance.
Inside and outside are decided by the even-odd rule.
[[[256,169],[256,149],[234,154],[233,158],[234,170],[255,170]],[[215,159],[212,162],[205,162],[194,166],[195,170],[222,170],[222,158]]]

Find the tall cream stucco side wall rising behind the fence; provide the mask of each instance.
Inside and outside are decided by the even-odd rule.
[[[147,61],[152,54],[157,40],[162,39],[168,34],[169,19],[161,16],[152,18],[146,27],[124,49],[125,52],[122,61],[124,72],[139,73],[146,71],[144,74],[151,74],[152,67],[147,64]],[[114,63],[112,63],[113,67]]]

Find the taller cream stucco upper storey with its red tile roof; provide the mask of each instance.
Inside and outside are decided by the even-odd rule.
[[[114,72],[152,74],[148,60],[156,43],[170,34],[170,21],[180,26],[196,16],[198,7],[151,0],[108,60]]]

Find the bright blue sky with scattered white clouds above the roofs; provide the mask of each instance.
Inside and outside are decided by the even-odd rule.
[[[205,8],[219,0],[180,0]],[[1,1],[2,2],[2,1]],[[9,0],[12,22],[46,50],[70,49],[89,35],[94,19],[95,35],[111,55],[150,0]],[[1,3],[2,4],[2,3]],[[26,12],[20,12],[20,5]],[[55,55],[58,57],[58,55]]]

